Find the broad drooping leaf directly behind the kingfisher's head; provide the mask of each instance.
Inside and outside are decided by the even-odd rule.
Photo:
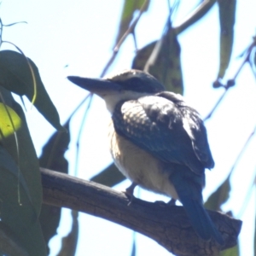
[[[137,51],[132,68],[151,73],[166,86],[166,90],[183,94],[180,45],[172,27],[159,42],[148,44]]]

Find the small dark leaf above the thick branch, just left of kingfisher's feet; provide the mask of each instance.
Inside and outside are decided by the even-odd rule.
[[[90,180],[108,187],[113,187],[124,181],[125,178],[126,177],[119,172],[118,168],[114,164],[111,164],[105,170],[96,174],[96,176],[91,177]]]

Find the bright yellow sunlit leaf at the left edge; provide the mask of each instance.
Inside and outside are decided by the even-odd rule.
[[[2,137],[9,137],[20,128],[21,119],[12,108],[0,103],[0,140]]]

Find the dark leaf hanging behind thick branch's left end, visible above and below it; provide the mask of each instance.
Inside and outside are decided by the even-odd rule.
[[[44,145],[42,155],[39,158],[41,167],[49,168],[50,170],[64,172],[68,171],[68,162],[64,154],[70,142],[69,121],[64,125],[67,132],[56,131],[49,141]],[[44,240],[46,244],[56,235],[56,230],[60,224],[61,208],[43,205],[39,216],[39,221],[42,226]],[[48,247],[49,253],[49,247]]]

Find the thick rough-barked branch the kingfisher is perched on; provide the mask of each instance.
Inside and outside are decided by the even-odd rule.
[[[215,241],[205,242],[195,235],[183,207],[139,199],[128,206],[124,193],[101,184],[43,168],[41,173],[45,204],[108,219],[152,238],[176,255],[218,255],[220,251]],[[235,246],[241,221],[220,212],[208,212],[223,234],[224,248]]]

